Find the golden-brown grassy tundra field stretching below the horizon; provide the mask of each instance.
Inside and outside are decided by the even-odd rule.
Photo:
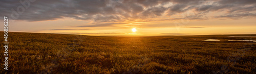
[[[227,42],[255,40],[256,37],[88,36],[22,32],[8,33],[6,71],[3,69],[3,34],[1,31],[2,73],[256,73],[256,43]],[[202,41],[206,39],[220,41]]]

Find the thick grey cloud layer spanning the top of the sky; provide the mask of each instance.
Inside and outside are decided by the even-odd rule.
[[[29,2],[24,7],[21,2]],[[44,21],[64,17],[93,20],[95,23],[135,21],[161,16],[172,16],[189,10],[198,14],[186,17],[192,20],[207,19],[205,15],[214,11],[226,11],[214,18],[239,19],[255,17],[255,0],[1,0],[0,15],[15,20]],[[171,4],[170,6],[166,6]],[[28,4],[25,3],[25,6]],[[19,10],[17,10],[17,8]],[[13,9],[13,10],[12,10]],[[24,10],[24,11],[23,11]],[[18,15],[15,15],[17,12]],[[172,18],[177,19],[177,18]],[[160,19],[161,20],[161,19]],[[80,27],[110,26],[113,24],[94,24]]]

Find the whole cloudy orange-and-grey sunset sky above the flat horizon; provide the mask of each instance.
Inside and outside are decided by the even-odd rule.
[[[12,32],[83,35],[256,33],[255,0],[1,0],[0,16],[8,17]],[[4,23],[3,18],[0,23]]]

